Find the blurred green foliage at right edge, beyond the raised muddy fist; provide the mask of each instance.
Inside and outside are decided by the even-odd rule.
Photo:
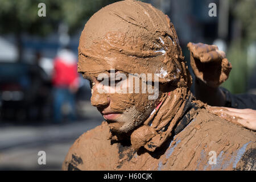
[[[247,80],[251,69],[247,65],[247,49],[256,42],[256,1],[229,0],[230,13],[233,18],[232,40],[226,52],[232,63],[229,78],[222,86],[232,93],[246,92]],[[254,59],[255,61],[256,59]]]

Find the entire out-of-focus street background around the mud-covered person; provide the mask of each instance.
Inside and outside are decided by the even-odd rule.
[[[86,21],[113,2],[0,0],[0,170],[59,170],[75,139],[104,120],[76,72],[77,47]],[[233,65],[221,86],[256,94],[255,0],[144,2],[170,17],[188,65],[188,42],[216,44]]]

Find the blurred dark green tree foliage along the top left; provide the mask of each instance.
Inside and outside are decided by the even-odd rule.
[[[74,33],[84,26],[96,11],[117,0],[0,0],[0,33],[14,34],[19,60],[22,59],[23,33],[46,36],[56,31],[60,23]],[[38,16],[39,3],[46,4],[46,17]]]

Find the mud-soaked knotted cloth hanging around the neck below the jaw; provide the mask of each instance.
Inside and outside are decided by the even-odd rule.
[[[180,133],[180,131],[195,118],[197,109],[204,105],[196,101],[191,92],[188,92],[181,102],[177,102],[171,97],[175,98],[175,96],[168,94],[167,97],[164,98],[162,105],[156,111],[155,116],[151,116],[152,120],[156,119],[156,116],[158,118],[164,118],[164,114],[168,114],[168,111],[176,109],[175,113],[173,112],[174,114],[167,118],[167,121],[164,121],[164,119],[163,121],[154,120],[153,123],[158,122],[158,125],[152,127],[152,122],[148,122],[147,125],[144,124],[138,127],[138,129],[126,134],[112,132],[112,143],[126,141],[125,143],[131,144],[135,150],[144,147],[148,151],[155,151],[155,149],[162,146],[168,138]],[[172,105],[176,107],[172,107]],[[162,114],[162,116],[160,114]],[[165,122],[165,125],[163,125],[163,122]],[[162,127],[158,129],[161,125]]]

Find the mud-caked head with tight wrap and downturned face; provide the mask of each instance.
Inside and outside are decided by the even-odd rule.
[[[110,128],[127,133],[154,114],[166,86],[187,85],[182,60],[168,16],[147,3],[121,1],[85,24],[78,71],[90,81],[92,105]]]

